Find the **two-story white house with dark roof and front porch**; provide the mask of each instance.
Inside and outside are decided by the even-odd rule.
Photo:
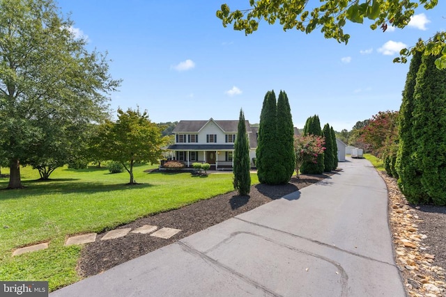
[[[245,121],[249,139],[249,159],[251,166],[256,156],[257,127]],[[173,159],[183,161],[187,167],[192,163],[209,163],[214,170],[233,167],[234,142],[238,130],[238,120],[181,120],[175,127],[175,144],[167,150]]]

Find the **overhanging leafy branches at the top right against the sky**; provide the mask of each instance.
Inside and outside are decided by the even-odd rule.
[[[404,28],[419,6],[429,10],[437,5],[438,0],[325,0],[319,6],[315,2],[249,0],[251,8],[231,11],[227,4],[222,4],[216,15],[222,19],[223,26],[233,24],[233,29],[245,31],[246,35],[256,31],[259,22],[264,20],[268,24],[279,22],[284,31],[297,29],[308,34],[314,29],[320,29],[325,38],[347,44],[350,35],[344,32],[344,26],[348,22],[362,24],[364,18],[367,18],[371,20],[372,30],[379,28],[386,31],[388,26]],[[403,49],[400,52],[401,57],[395,58],[394,62],[406,63],[407,57],[416,51],[438,55],[443,49],[443,53],[436,59],[436,66],[446,68],[445,40],[446,33],[443,32],[426,42],[419,41],[410,50]]]

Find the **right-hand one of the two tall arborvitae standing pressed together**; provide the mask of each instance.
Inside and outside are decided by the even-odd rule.
[[[295,168],[294,126],[288,96],[280,91],[277,99],[277,180],[276,184],[286,184],[293,176]]]

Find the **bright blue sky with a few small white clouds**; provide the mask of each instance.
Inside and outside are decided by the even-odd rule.
[[[147,110],[152,122],[238,120],[258,123],[268,90],[289,98],[295,127],[318,115],[321,126],[351,130],[378,111],[397,111],[409,63],[392,63],[403,47],[446,29],[446,1],[417,8],[404,29],[383,33],[348,24],[348,45],[279,25],[252,35],[224,28],[222,3],[249,1],[59,0],[87,49],[107,52],[109,72],[123,82],[110,107]],[[443,14],[442,14],[443,13]],[[116,113],[115,113],[116,114]]]

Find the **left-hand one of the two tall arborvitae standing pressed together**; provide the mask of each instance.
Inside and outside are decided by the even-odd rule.
[[[259,138],[256,150],[256,166],[259,182],[275,184],[275,176],[279,175],[277,162],[277,105],[274,90],[268,91],[263,99],[260,114]]]

